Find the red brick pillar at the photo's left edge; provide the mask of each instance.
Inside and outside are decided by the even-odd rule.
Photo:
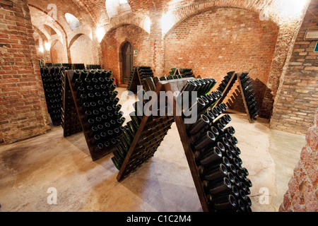
[[[0,6],[0,129],[12,143],[45,133],[49,115],[25,0]]]

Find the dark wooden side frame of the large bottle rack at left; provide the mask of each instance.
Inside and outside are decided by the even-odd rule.
[[[102,150],[97,152],[95,151],[96,144],[90,143],[91,138],[88,136],[90,130],[87,129],[87,123],[83,121],[82,107],[79,104],[79,98],[76,97],[75,84],[71,82],[73,72],[74,71],[65,71],[64,73],[64,137],[83,131],[90,156],[92,160],[95,161],[112,153],[116,146],[110,145],[110,147],[102,148]]]

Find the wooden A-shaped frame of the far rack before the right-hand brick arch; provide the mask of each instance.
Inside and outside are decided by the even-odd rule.
[[[228,75],[230,76],[230,80],[228,81],[228,85],[226,85],[225,89],[223,90],[222,94],[223,97],[221,97],[218,102],[216,102],[217,106],[218,104],[220,104],[221,102],[223,102],[223,100],[225,99],[225,97],[228,95],[228,93],[230,92],[232,86],[234,85],[234,83],[236,81],[238,81],[239,86],[240,86],[240,94],[242,95],[242,100],[245,106],[245,111],[247,113],[247,119],[249,119],[249,122],[252,123],[254,121],[254,119],[251,117],[251,114],[249,112],[249,107],[247,106],[247,100],[245,97],[245,93],[244,93],[244,88],[242,85],[242,81],[241,81],[241,76],[247,76],[247,72],[235,72],[235,71],[230,71],[228,73]],[[231,76],[232,75],[232,76]]]

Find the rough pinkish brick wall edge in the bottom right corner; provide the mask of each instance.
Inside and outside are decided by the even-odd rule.
[[[294,175],[288,184],[281,212],[317,212],[318,211],[318,109],[314,125],[308,130],[307,144],[302,148],[300,161],[294,169]]]

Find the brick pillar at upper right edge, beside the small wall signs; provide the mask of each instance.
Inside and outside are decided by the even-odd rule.
[[[318,1],[312,1],[298,33],[288,70],[276,97],[271,128],[306,133],[318,106],[317,40],[304,40],[307,30],[318,30]]]

